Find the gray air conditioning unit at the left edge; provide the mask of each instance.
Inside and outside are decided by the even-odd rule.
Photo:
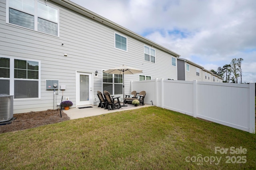
[[[0,94],[0,122],[13,118],[13,96]]]

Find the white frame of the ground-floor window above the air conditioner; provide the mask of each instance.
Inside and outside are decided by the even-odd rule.
[[[31,60],[31,59],[20,59],[20,58],[12,58],[12,57],[6,57],[6,56],[0,56],[4,58],[10,59],[10,78],[0,78],[3,80],[10,80],[10,95],[14,95],[14,80],[25,80],[25,81],[35,81],[37,79],[25,79],[25,78],[14,78],[14,60],[24,60],[24,61],[34,61],[38,62],[38,98],[14,98],[14,100],[35,100],[35,99],[40,99],[41,98],[41,61],[37,60]]]

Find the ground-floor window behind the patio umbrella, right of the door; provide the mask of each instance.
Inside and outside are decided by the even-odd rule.
[[[123,94],[123,75],[122,74],[102,74],[103,91],[106,90],[112,95]]]

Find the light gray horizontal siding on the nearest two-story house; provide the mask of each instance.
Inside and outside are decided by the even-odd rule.
[[[143,74],[152,79],[177,80],[177,68],[171,66],[170,54],[152,47],[156,50],[156,63],[144,61],[144,45],[151,45],[120,33],[127,37],[128,51],[115,49],[114,33],[118,31],[57,4],[53,6],[60,9],[59,37],[7,24],[6,4],[0,2],[0,57],[41,62],[41,98],[14,100],[14,113],[53,109],[53,91],[45,90],[46,79],[56,79],[59,85],[66,85],[63,98],[69,97],[76,107],[76,71],[94,74],[98,70],[98,77],[93,79],[93,98],[97,100],[96,92],[102,90],[101,70],[122,64],[142,69]],[[130,93],[130,81],[138,79],[139,74],[125,75],[124,94]],[[62,91],[58,90],[57,101],[61,102],[61,98]]]

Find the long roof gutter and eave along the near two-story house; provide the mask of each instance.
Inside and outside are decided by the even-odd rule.
[[[121,25],[118,25],[117,23],[114,23],[90,10],[87,10],[86,8],[82,7],[82,6],[79,6],[78,4],[75,4],[74,2],[71,2],[70,0],[50,0],[56,4],[59,4],[61,6],[64,6],[74,12],[78,12],[79,14],[82,14],[94,21],[97,21],[101,24],[104,24],[108,27],[111,27],[115,30],[118,30],[120,31],[121,33],[124,33],[126,35],[129,35],[130,37],[133,37],[135,39],[138,39],[139,41],[142,41],[148,45],[151,45],[152,47],[155,47],[157,49],[160,49],[162,51],[165,51],[166,53],[169,53],[171,55],[173,55],[174,57],[180,57],[179,54],[157,44],[157,43],[154,43],[153,41],[137,34],[137,33],[134,33],[133,31],[130,31],[129,29],[126,29],[125,27],[122,27]]]

